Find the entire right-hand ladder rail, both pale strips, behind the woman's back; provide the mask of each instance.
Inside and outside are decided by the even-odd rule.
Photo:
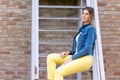
[[[87,5],[94,8],[95,13],[95,25],[96,25],[96,33],[97,33],[97,41],[96,41],[96,52],[95,52],[95,61],[93,67],[93,80],[105,80],[105,71],[104,71],[104,63],[103,63],[103,52],[102,52],[102,42],[100,35],[100,24],[99,24],[99,16],[98,16],[98,5],[96,0],[87,0]],[[95,76],[96,75],[96,76]]]

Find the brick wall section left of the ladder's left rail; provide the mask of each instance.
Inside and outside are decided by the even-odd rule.
[[[0,0],[0,80],[30,79],[31,0]]]

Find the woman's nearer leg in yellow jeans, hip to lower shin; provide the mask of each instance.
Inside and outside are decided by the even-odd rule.
[[[85,56],[85,57],[73,60],[66,65],[60,66],[55,71],[54,80],[63,80],[63,76],[86,71],[92,66],[92,64],[93,64],[92,56]]]

